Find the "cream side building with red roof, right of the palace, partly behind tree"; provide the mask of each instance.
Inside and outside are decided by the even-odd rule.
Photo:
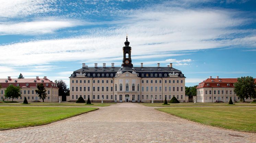
[[[256,83],[256,78],[254,78]],[[234,83],[237,78],[212,78],[210,76],[205,81],[202,81],[197,86],[197,102],[229,102],[230,97],[232,101],[239,101],[240,98],[234,92]],[[248,98],[245,101],[253,101],[254,99]]]

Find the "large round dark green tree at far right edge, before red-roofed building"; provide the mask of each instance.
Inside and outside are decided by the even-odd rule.
[[[236,93],[236,96],[243,99],[244,102],[245,98],[256,98],[255,81],[253,77],[238,77],[237,82],[234,83],[234,92]]]

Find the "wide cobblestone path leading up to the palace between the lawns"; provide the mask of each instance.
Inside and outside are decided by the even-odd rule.
[[[48,125],[0,131],[0,142],[256,142],[256,133],[200,125],[118,103]]]

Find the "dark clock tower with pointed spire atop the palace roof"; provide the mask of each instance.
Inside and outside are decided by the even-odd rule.
[[[131,63],[131,47],[129,46],[128,38],[126,36],[125,46],[123,47],[123,63],[122,67],[133,67]]]

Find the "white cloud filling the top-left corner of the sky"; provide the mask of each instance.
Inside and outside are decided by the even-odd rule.
[[[57,11],[56,0],[0,0],[0,17],[20,17]]]

